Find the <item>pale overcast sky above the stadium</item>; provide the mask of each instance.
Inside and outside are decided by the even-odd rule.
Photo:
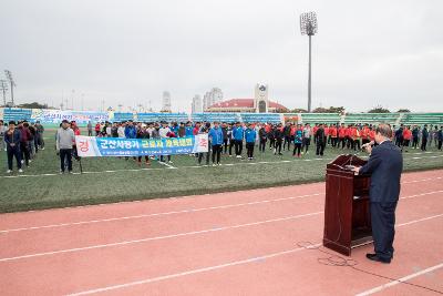
[[[307,106],[308,37],[299,14],[318,13],[312,105],[443,111],[441,0],[1,0],[0,70],[17,103],[117,104],[190,111],[214,86],[225,99]],[[3,78],[3,73],[0,73]],[[75,90],[72,93],[72,90]]]

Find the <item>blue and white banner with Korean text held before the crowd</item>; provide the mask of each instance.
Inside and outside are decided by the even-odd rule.
[[[79,156],[143,156],[176,155],[208,152],[208,135],[198,134],[185,137],[164,139],[122,139],[75,136]]]

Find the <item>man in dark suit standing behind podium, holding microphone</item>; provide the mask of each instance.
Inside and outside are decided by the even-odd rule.
[[[370,154],[368,163],[354,169],[356,174],[371,174],[369,197],[375,254],[367,254],[367,257],[381,263],[391,263],[394,254],[395,207],[403,170],[402,153],[392,143],[391,136],[391,127],[380,124],[375,130],[375,142],[379,145],[373,149],[367,145]]]

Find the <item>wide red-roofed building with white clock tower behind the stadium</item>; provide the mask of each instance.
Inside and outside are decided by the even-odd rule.
[[[214,103],[205,109],[205,112],[288,112],[289,110],[268,99],[268,85],[257,84],[254,92],[254,99],[230,99],[227,101]]]

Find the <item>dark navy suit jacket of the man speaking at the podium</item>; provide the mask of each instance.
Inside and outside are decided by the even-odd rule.
[[[371,202],[392,203],[399,201],[402,170],[402,153],[391,141],[384,141],[372,149],[368,163],[360,169],[360,174],[371,174],[369,191]]]

